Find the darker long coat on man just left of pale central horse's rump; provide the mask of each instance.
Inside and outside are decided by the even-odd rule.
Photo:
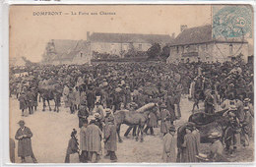
[[[108,123],[105,127],[105,137],[106,142],[104,148],[109,151],[116,151],[116,127],[113,123]]]

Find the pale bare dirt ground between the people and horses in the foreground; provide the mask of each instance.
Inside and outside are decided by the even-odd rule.
[[[51,102],[52,103],[52,102]],[[53,104],[53,103],[52,103]],[[28,117],[22,117],[21,110],[19,110],[19,102],[15,97],[10,98],[10,138],[15,139],[16,131],[19,129],[17,124],[19,120],[23,119],[26,126],[32,130],[32,149],[37,161],[39,163],[63,163],[65,159],[68,140],[72,129],[78,128],[78,116],[76,114],[69,114],[69,109],[60,108],[60,112],[50,112],[48,109],[42,112],[42,103],[38,103],[38,109]],[[52,107],[53,108],[53,107]],[[192,102],[183,97],[181,100],[181,114],[180,120],[175,121],[176,128],[188,120],[191,114]],[[138,163],[138,162],[162,162],[162,136],[160,128],[154,129],[155,136],[145,136],[144,142],[135,141],[131,137],[126,139],[123,137],[127,126],[122,125],[121,137],[123,142],[117,143],[116,155],[118,162]],[[79,134],[78,134],[79,137]],[[79,139],[79,138],[78,138]],[[20,158],[17,157],[18,142],[16,142],[16,162],[20,163]],[[103,147],[103,144],[102,144]],[[209,144],[202,144],[201,152],[209,151]],[[102,155],[104,150],[102,150]],[[78,156],[75,155],[74,161],[78,163]],[[254,143],[251,139],[249,147],[241,148],[228,159],[233,162],[251,162],[254,158]],[[28,162],[32,162],[31,158],[27,158]],[[101,156],[100,163],[108,163],[110,160],[104,159]]]

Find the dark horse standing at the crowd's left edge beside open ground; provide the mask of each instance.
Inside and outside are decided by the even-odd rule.
[[[54,88],[53,88],[54,87]],[[51,107],[50,107],[50,100],[54,100],[54,111],[59,112],[59,107],[60,107],[60,98],[61,98],[61,86],[59,83],[56,83],[54,85],[52,85],[51,88],[42,88],[42,87],[38,87],[38,92],[40,94],[40,98],[42,98],[42,111],[45,111],[45,101],[47,101],[48,106],[49,106],[49,110],[51,111]]]

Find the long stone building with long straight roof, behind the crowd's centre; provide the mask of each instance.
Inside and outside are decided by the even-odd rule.
[[[111,54],[123,57],[129,49],[147,51],[153,43],[161,46],[171,42],[168,34],[138,34],[138,33],[99,33],[88,32],[88,41],[91,43],[91,54]]]

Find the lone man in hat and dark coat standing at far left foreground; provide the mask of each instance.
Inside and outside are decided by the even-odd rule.
[[[18,156],[22,158],[22,163],[25,163],[25,157],[31,156],[32,162],[37,163],[33,152],[32,152],[32,131],[30,128],[25,127],[23,120],[19,121],[19,130],[15,135],[15,139],[18,140]]]

